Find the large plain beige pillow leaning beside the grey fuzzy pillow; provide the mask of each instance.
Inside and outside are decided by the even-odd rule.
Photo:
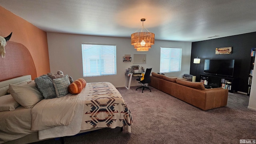
[[[36,88],[34,82],[25,86],[10,84],[9,91],[12,97],[25,108],[32,108],[44,98]]]

